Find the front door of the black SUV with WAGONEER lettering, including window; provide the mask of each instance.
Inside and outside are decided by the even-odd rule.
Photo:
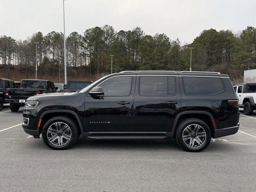
[[[132,132],[136,76],[112,76],[100,82],[104,95],[85,99],[86,132]]]

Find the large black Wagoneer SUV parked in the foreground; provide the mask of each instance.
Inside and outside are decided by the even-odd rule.
[[[28,98],[24,131],[53,149],[90,139],[171,139],[187,151],[235,134],[238,98],[230,78],[216,72],[124,71],[80,92]]]

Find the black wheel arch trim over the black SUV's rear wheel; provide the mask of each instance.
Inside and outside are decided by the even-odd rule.
[[[203,120],[204,122],[206,122],[206,124],[208,124],[208,126],[210,127],[211,130],[211,134],[212,137],[214,137],[214,130],[216,130],[216,123],[215,120],[212,116],[212,114],[210,114],[209,112],[206,111],[185,111],[185,112],[181,112],[177,115],[173,127],[172,127],[172,132],[175,135],[176,132],[176,128],[178,126],[178,124],[187,118],[198,118],[200,120]]]

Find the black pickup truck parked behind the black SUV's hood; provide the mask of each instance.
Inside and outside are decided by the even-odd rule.
[[[22,79],[20,88],[8,88],[5,101],[10,103],[10,110],[17,112],[26,100],[33,95],[56,92],[54,83],[48,80]]]

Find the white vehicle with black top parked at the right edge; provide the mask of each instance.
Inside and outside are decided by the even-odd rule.
[[[244,114],[252,115],[256,110],[256,83],[243,83],[234,86],[238,97],[238,106],[244,108]]]

